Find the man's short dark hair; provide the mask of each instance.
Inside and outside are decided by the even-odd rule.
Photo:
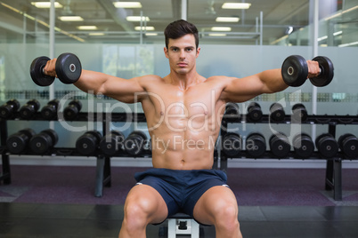
[[[198,49],[199,46],[199,35],[198,28],[194,24],[186,20],[175,20],[164,30],[164,36],[166,36],[166,47],[169,44],[169,39],[177,39],[182,36],[192,34],[195,37],[195,45]]]

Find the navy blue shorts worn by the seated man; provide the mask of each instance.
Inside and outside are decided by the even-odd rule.
[[[134,175],[137,184],[156,189],[167,203],[168,217],[183,212],[193,217],[195,204],[213,186],[227,186],[224,171],[150,169]]]

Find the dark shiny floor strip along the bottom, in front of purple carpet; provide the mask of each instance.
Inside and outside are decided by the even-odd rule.
[[[123,219],[123,205],[0,202],[0,210],[3,238],[113,238]],[[249,238],[358,237],[356,206],[242,206],[239,218],[241,232]],[[148,226],[147,237],[159,237],[163,226]],[[200,231],[200,237],[215,237],[213,226]]]

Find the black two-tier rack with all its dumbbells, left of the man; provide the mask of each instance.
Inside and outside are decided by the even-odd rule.
[[[3,171],[0,181],[11,184],[10,155],[59,155],[59,156],[95,156],[96,179],[95,196],[102,196],[103,186],[110,186],[110,157],[150,157],[151,147],[142,131],[132,131],[125,139],[121,131],[110,131],[110,123],[145,123],[143,114],[81,112],[81,101],[74,99],[60,112],[59,100],[53,99],[40,108],[37,99],[28,100],[20,107],[16,99],[8,100],[0,106],[0,130]],[[85,131],[77,140],[76,147],[56,147],[58,134],[52,129],[39,131],[22,128],[8,135],[8,121],[72,121],[97,122],[101,116],[102,131]]]

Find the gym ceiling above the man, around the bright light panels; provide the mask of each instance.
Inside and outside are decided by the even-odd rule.
[[[35,0],[0,1],[0,42],[16,42],[23,40],[24,12],[30,17],[49,22],[49,10],[38,9],[31,2]],[[130,0],[128,0],[130,1]],[[143,16],[150,18],[147,26],[155,28],[158,36],[146,36],[146,42],[163,41],[162,32],[167,24],[173,20],[181,19],[182,0],[136,0],[142,3],[140,9],[115,8],[114,0],[57,0],[64,7],[56,9],[55,27],[61,32],[56,33],[56,42],[76,41],[71,36],[77,36],[85,42],[130,42],[140,39],[135,26],[140,22],[129,22],[126,16]],[[309,0],[247,0],[251,4],[248,10],[222,9],[224,0],[188,0],[187,20],[194,23],[200,32],[201,42],[234,43],[234,44],[259,44],[260,31],[257,21],[260,20],[260,12],[263,12],[263,44],[270,44],[274,40],[286,35],[289,26],[294,29],[308,25]],[[233,1],[230,2],[241,2]],[[14,8],[20,11],[15,12]],[[57,17],[66,14],[81,16],[82,22],[63,22]],[[216,17],[240,17],[236,23],[218,23]],[[26,18],[27,41],[30,42],[39,36],[39,32],[48,32],[48,28],[36,24],[34,20]],[[145,24],[144,22],[142,24]],[[104,36],[89,36],[93,31],[80,31],[79,25],[95,25],[95,32],[105,33]],[[231,27],[231,32],[226,32],[226,37],[210,37],[208,33],[212,27]],[[35,33],[37,30],[37,33]],[[65,32],[65,34],[63,33]],[[66,35],[67,33],[67,35]],[[44,34],[43,34],[44,35]],[[76,37],[75,37],[76,38]]]

